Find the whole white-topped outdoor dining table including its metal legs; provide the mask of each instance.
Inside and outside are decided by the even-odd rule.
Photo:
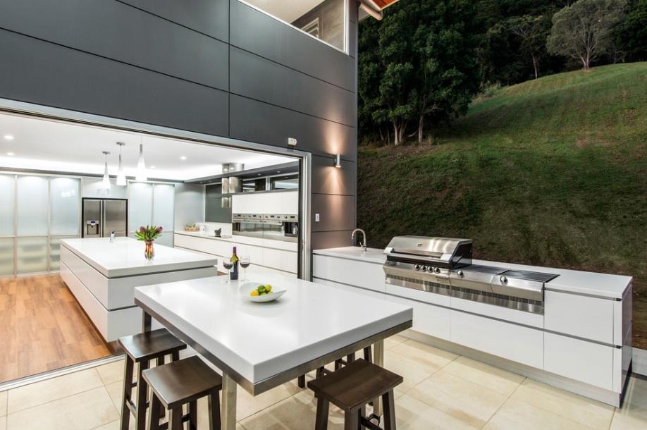
[[[270,285],[277,298],[253,301],[249,289],[257,285]],[[273,298],[255,300],[261,297]],[[135,303],[144,331],[159,321],[222,372],[225,430],[235,429],[238,386],[258,395],[371,345],[383,365],[383,340],[413,319],[406,305],[270,271],[248,271],[245,281],[211,276],[144,285],[135,288]]]

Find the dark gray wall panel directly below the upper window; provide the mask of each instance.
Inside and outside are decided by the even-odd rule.
[[[230,5],[230,44],[355,91],[355,59],[246,4]]]

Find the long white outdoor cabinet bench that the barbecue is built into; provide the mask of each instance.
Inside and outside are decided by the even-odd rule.
[[[543,314],[386,282],[383,250],[313,252],[313,281],[414,309],[404,336],[618,406],[631,369],[631,277],[474,260],[558,274]]]

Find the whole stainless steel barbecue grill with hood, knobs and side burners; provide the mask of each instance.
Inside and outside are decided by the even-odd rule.
[[[386,283],[543,314],[556,274],[472,264],[472,240],[396,236],[386,250]]]

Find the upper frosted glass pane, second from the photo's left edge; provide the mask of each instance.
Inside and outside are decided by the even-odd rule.
[[[47,235],[48,201],[49,178],[18,176],[18,235]]]

